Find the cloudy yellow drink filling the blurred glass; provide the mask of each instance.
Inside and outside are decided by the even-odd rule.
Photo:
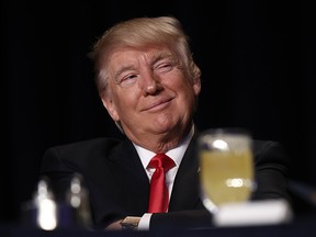
[[[250,149],[201,150],[201,188],[215,205],[249,200],[253,168]]]

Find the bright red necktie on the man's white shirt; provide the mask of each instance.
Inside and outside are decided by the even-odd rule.
[[[174,161],[165,154],[151,158],[148,168],[155,168],[150,181],[148,213],[166,213],[169,205],[169,193],[165,181],[166,172],[174,167]]]

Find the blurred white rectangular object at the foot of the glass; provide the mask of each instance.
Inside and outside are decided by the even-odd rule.
[[[252,201],[225,204],[214,214],[215,226],[276,225],[293,218],[285,200]]]

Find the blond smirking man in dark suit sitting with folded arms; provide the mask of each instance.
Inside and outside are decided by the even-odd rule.
[[[170,16],[121,22],[100,37],[91,57],[100,98],[124,139],[97,138],[47,150],[41,170],[50,178],[57,196],[63,199],[79,172],[90,193],[95,227],[211,225],[212,216],[200,199],[194,151],[201,71],[180,22]],[[167,211],[158,213],[148,211],[149,198],[158,199],[149,195],[156,168],[148,165],[156,154],[168,155],[174,165],[166,172]],[[286,198],[281,147],[256,142],[255,159],[253,199]]]

